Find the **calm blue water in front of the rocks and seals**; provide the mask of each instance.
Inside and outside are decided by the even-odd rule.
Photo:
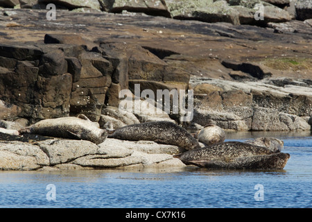
[[[260,136],[268,135],[227,140]],[[283,170],[1,171],[0,207],[312,207],[312,136],[269,136],[284,140],[283,152],[291,154]]]

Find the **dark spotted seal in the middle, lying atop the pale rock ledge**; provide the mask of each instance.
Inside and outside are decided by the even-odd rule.
[[[123,126],[108,135],[123,140],[150,140],[161,144],[180,146],[187,150],[199,148],[197,139],[184,128],[169,121],[153,121]]]

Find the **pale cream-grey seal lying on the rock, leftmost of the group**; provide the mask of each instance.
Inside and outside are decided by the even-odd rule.
[[[94,144],[101,144],[107,138],[107,131],[98,128],[96,123],[90,121],[83,114],[78,115],[78,117],[44,119],[32,126],[19,130],[19,133],[31,133],[68,139],[84,139]]]

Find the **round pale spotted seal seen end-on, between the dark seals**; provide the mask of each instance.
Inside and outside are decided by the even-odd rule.
[[[219,126],[209,124],[198,132],[198,141],[206,144],[218,144],[225,141],[225,132]]]

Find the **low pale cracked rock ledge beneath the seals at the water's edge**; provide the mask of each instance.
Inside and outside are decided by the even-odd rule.
[[[54,171],[186,167],[180,160],[173,158],[173,153],[180,151],[179,147],[155,142],[130,142],[107,138],[105,142],[97,146],[85,140],[38,137],[37,135],[25,137],[23,140],[27,142],[18,141],[16,137],[11,137],[11,141],[6,142],[2,139],[3,135],[0,151],[1,170]]]

